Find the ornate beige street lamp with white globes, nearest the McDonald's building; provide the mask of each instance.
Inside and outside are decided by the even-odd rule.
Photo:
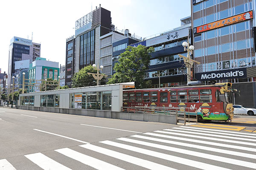
[[[187,68],[187,82],[190,82],[191,79],[191,68],[194,64],[194,62],[200,64],[200,62],[195,61],[193,59],[190,58],[190,54],[193,54],[193,50],[195,49],[195,47],[193,45],[189,45],[189,36],[188,36],[188,42],[182,42],[182,46],[184,47],[184,51],[187,51],[187,57],[178,54],[180,58],[183,58],[186,68]]]

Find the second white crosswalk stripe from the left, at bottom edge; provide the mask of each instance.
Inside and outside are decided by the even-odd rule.
[[[24,156],[44,170],[71,170],[70,168],[65,167],[53,159],[50,159],[42,153],[32,153]]]

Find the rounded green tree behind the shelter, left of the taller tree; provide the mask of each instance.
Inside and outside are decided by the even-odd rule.
[[[96,85],[96,80],[93,78],[92,75],[88,75],[87,73],[97,73],[97,71],[93,68],[92,65],[87,65],[86,67],[82,68],[73,76],[72,88]],[[101,85],[102,84],[105,84],[105,77],[101,79]]]

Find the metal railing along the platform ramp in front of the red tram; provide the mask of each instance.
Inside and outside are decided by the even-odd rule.
[[[194,111],[191,111],[194,110]],[[177,122],[179,120],[186,122],[196,122],[198,123],[198,115],[195,112],[196,108],[174,108],[174,107],[152,107],[152,106],[135,106],[135,107],[122,107],[123,112],[128,113],[147,113],[147,114],[166,114],[166,115],[176,115]]]

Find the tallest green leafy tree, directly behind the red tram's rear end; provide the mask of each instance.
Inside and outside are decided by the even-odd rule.
[[[145,81],[144,77],[150,64],[150,53],[152,52],[154,52],[152,47],[128,46],[125,52],[120,54],[120,58],[114,66],[116,73],[109,79],[108,84],[135,82],[135,88],[137,89],[150,88],[151,81]]]

